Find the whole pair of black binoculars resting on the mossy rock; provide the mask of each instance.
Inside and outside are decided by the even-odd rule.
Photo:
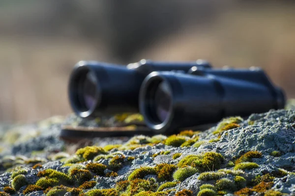
[[[283,91],[262,69],[213,69],[205,60],[143,59],[127,66],[80,61],[68,91],[72,109],[82,118],[140,112],[155,134],[285,105]]]

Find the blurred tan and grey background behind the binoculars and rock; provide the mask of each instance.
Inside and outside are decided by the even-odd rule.
[[[295,1],[0,0],[0,122],[71,113],[79,60],[259,66],[295,97]]]

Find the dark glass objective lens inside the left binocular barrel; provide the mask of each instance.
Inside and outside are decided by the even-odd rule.
[[[82,77],[79,84],[79,99],[86,110],[95,107],[96,104],[96,89],[97,82],[95,75],[88,72],[85,77]]]

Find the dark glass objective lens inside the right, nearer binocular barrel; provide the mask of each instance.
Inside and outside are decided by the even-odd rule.
[[[157,118],[164,122],[169,115],[172,99],[169,84],[166,81],[160,82],[154,95],[154,107]]]

